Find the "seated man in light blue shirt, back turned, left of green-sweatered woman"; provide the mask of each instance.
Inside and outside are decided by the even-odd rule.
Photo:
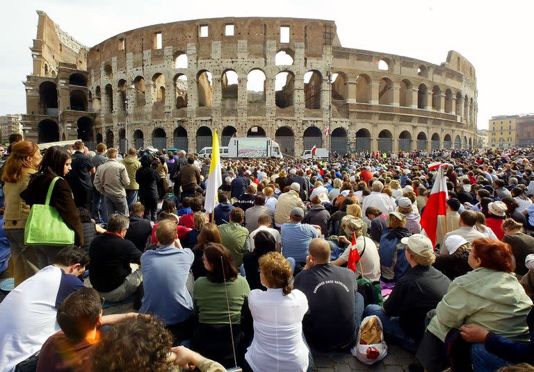
[[[159,246],[141,256],[144,295],[139,312],[158,316],[178,344],[189,338],[193,299],[186,281],[195,256],[175,240],[176,224],[172,221],[161,221],[156,237]]]

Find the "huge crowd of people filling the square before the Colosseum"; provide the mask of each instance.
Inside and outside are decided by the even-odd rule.
[[[532,149],[223,159],[213,212],[209,159],[96,149],[12,135],[0,159],[0,371],[311,371],[370,315],[412,371],[534,362]],[[26,245],[50,193],[74,244]]]

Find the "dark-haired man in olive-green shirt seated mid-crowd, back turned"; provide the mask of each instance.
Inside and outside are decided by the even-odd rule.
[[[230,212],[230,221],[218,227],[223,246],[232,254],[236,267],[241,266],[243,254],[247,251],[245,242],[248,238],[248,230],[241,226],[244,217],[245,213],[241,208],[234,208]]]

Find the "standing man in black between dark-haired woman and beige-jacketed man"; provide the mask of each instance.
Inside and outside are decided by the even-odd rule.
[[[72,154],[72,171],[67,180],[74,195],[76,207],[90,209],[92,182],[91,176],[95,174],[95,164],[83,153],[83,141],[74,142],[74,153]]]

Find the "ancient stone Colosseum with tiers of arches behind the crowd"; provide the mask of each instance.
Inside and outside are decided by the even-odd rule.
[[[475,69],[341,46],[334,21],[156,24],[84,47],[38,11],[23,117],[30,140],[200,151],[218,130],[282,153],[470,147]],[[330,129],[330,133],[328,133]]]

